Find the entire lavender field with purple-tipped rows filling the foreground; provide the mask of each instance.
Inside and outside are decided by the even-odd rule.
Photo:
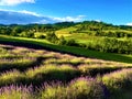
[[[132,99],[132,64],[0,45],[0,99]]]

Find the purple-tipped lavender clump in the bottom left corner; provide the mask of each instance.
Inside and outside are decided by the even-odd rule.
[[[32,87],[7,86],[0,88],[0,99],[34,99]]]

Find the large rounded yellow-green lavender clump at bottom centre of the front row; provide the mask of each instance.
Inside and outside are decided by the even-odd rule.
[[[69,85],[46,85],[40,99],[103,99],[103,89],[94,79],[78,78]]]

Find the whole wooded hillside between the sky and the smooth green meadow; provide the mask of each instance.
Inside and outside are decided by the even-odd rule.
[[[73,30],[69,30],[73,28]],[[63,29],[68,30],[67,33],[70,37],[87,34],[89,37],[87,43],[78,43],[77,38],[68,38],[67,36],[57,35],[57,31]],[[63,32],[63,31],[62,31]],[[69,45],[85,47],[100,52],[132,54],[132,26],[127,25],[112,25],[105,22],[84,21],[84,22],[62,22],[54,24],[11,24],[0,25],[0,34],[32,37],[32,38],[46,38],[54,44]]]

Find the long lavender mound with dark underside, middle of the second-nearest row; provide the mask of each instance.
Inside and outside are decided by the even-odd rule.
[[[70,66],[42,66],[34,69],[29,69],[26,73],[29,79],[32,80],[33,84],[38,85],[42,81],[51,81],[51,80],[61,80],[61,81],[69,81],[75,77],[78,77],[79,72]]]

